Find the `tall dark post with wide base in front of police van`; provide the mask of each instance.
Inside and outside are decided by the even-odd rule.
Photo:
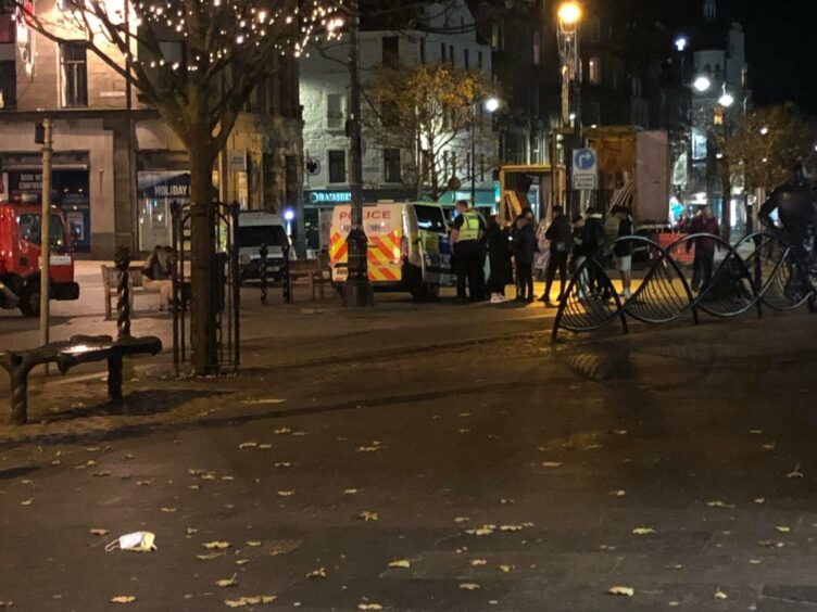
[[[349,273],[343,285],[344,306],[372,306],[374,292],[368,280],[368,239],[363,228],[363,143],[361,141],[360,17],[357,0],[350,1],[352,20],[349,28],[349,140],[350,188],[352,191],[352,228],[347,237]]]

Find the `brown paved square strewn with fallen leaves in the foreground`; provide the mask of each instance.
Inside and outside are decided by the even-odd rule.
[[[36,422],[0,428],[0,601],[817,607],[817,317],[553,347],[543,311],[304,304],[263,315],[286,349],[236,377],[136,370],[122,407],[92,377],[35,381]],[[339,324],[359,346],[326,356]],[[138,530],[156,551],[104,551]]]

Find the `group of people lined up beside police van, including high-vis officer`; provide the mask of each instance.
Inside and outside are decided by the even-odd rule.
[[[544,293],[538,298],[546,306],[553,306],[551,289],[560,277],[560,293],[556,302],[565,293],[568,269],[577,270],[585,259],[595,257],[607,239],[632,235],[632,216],[626,206],[614,206],[607,224],[601,212],[589,209],[585,216],[570,220],[561,206],[553,209],[550,225],[537,226],[530,208],[526,208],[510,227],[502,227],[497,216],[486,219],[468,203],[456,203],[457,217],[451,232],[453,264],[456,272],[456,296],[461,302],[480,302],[490,297],[491,303],[506,299],[505,288],[516,284],[516,301],[532,303],[533,270],[542,271],[545,281]],[[613,226],[614,234],[607,232]],[[631,294],[632,244],[618,242],[612,254],[621,276],[623,296]],[[485,281],[486,258],[490,265],[488,282]],[[601,275],[591,269],[588,283],[604,293],[609,285],[601,286]],[[466,293],[467,289],[467,293]]]

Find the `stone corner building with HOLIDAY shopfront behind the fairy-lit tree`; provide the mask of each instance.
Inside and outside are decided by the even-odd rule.
[[[37,3],[46,23],[60,22],[64,10]],[[110,56],[124,64],[115,51]],[[256,88],[213,170],[219,197],[242,208],[302,202],[298,63],[279,61],[273,75]],[[188,154],[173,131],[84,43],[51,41],[14,12],[0,14],[0,199],[40,201],[35,126],[45,118],[53,124],[52,202],[78,255],[109,259],[117,244],[142,253],[169,244],[171,202],[190,193]]]

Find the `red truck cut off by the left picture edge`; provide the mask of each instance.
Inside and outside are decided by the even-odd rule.
[[[0,202],[0,307],[20,308],[26,317],[40,310],[40,221],[39,204]],[[77,299],[71,232],[56,207],[51,208],[49,233],[51,299]]]

